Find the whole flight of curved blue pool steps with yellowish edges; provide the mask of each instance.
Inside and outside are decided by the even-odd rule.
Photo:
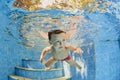
[[[8,76],[8,80],[70,80],[64,77],[61,62],[55,64],[53,69],[45,70],[45,65],[39,59],[22,59],[22,66],[15,67],[15,73]]]

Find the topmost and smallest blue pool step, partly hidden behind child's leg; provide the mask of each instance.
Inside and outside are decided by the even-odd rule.
[[[25,59],[22,59],[22,67],[44,69],[45,65],[42,64],[39,59],[25,58]],[[54,65],[54,68],[61,68],[61,67],[62,67],[62,62],[60,61],[55,63]]]

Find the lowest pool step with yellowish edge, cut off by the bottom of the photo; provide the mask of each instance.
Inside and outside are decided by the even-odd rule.
[[[71,77],[59,77],[59,78],[53,78],[53,79],[30,79],[30,78],[25,78],[17,75],[9,75],[8,80],[70,80]]]

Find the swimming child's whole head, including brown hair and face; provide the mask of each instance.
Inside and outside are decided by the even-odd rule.
[[[64,47],[66,41],[66,32],[63,30],[52,30],[48,32],[50,44],[56,48]]]

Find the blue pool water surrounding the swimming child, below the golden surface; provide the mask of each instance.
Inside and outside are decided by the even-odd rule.
[[[11,74],[39,76],[41,73],[22,74],[15,67],[23,66],[24,58],[39,59],[41,50],[49,43],[38,31],[47,33],[53,29],[72,33],[68,42],[81,47],[84,54],[72,51],[70,54],[78,63],[82,59],[86,67],[86,74],[81,75],[78,69],[63,62],[64,74],[59,72],[56,76],[70,75],[71,80],[120,80],[120,1],[108,2],[105,11],[43,9],[30,12],[11,7],[12,0],[1,0],[0,80],[8,80]],[[76,26],[71,28],[73,23]],[[38,65],[34,63],[34,66]]]

